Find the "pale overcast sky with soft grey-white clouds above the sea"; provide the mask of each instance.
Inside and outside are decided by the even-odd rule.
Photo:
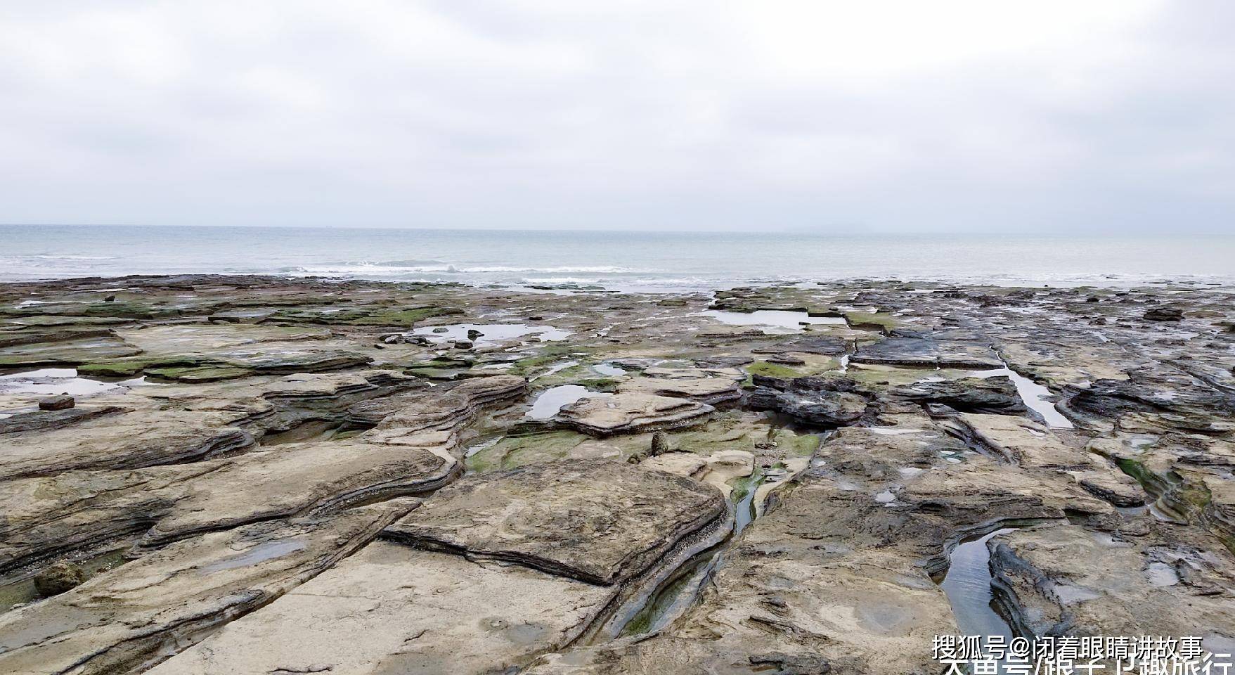
[[[0,223],[1233,231],[1235,2],[0,5]]]

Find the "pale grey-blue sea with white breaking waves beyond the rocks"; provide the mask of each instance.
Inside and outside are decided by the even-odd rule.
[[[855,278],[1220,284],[1235,282],[1235,236],[0,225],[0,281],[168,273],[634,291]]]

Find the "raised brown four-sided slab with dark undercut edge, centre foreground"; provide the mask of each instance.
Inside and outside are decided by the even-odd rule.
[[[472,475],[384,537],[615,584],[638,575],[725,512],[720,491],[608,460]]]

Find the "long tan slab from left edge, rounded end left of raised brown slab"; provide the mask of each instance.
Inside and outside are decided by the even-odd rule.
[[[411,495],[454,467],[424,448],[343,443],[133,471],[69,471],[0,482],[0,570],[104,541],[159,546],[204,532]]]

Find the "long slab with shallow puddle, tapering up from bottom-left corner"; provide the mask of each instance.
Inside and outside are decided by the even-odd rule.
[[[257,523],[172,544],[0,616],[0,671],[127,671],[279,597],[368,543],[414,501]],[[222,671],[216,671],[222,673]]]

